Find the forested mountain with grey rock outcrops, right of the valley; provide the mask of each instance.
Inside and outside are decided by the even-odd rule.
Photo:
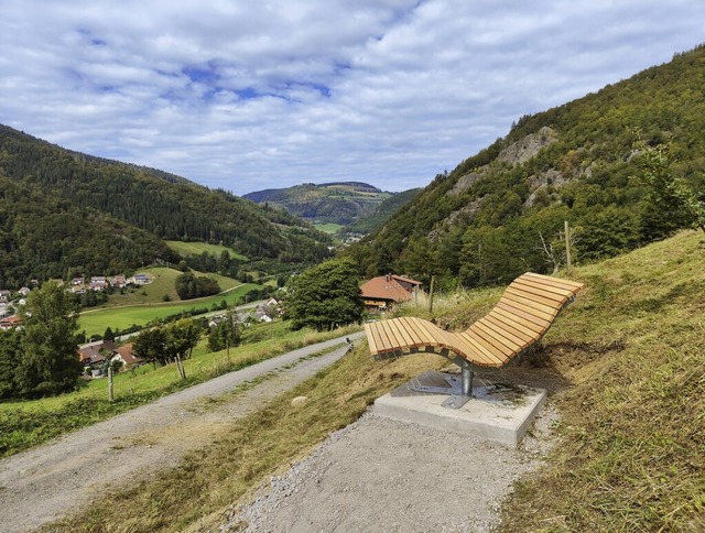
[[[634,176],[668,144],[669,171],[705,200],[705,46],[597,94],[518,120],[503,139],[435,180],[344,253],[366,275],[399,272],[473,286],[610,257],[686,225]],[[643,144],[640,143],[640,140]]]

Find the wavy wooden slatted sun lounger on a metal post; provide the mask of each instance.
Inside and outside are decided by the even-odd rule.
[[[414,317],[365,325],[376,359],[433,352],[463,369],[463,394],[470,395],[473,367],[501,367],[527,351],[549,330],[583,283],[528,272],[517,278],[500,301],[463,333],[451,333]]]

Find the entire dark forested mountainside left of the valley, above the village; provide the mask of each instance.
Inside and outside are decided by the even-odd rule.
[[[0,282],[169,260],[173,252],[160,239],[223,243],[289,263],[318,262],[330,243],[288,213],[0,126]]]

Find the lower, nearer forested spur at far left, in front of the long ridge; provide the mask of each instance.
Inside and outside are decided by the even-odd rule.
[[[158,237],[18,184],[0,171],[0,287],[29,280],[116,274],[178,258]]]

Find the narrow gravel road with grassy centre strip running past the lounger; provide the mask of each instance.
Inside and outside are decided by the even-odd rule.
[[[348,337],[362,336],[360,331]],[[340,337],[290,351],[0,460],[2,531],[32,531],[89,505],[108,485],[133,483],[176,465],[187,450],[207,444],[226,424],[340,359],[348,349],[345,340]],[[335,347],[325,356],[306,359]],[[263,382],[224,396],[268,374]],[[223,398],[214,402],[217,396]]]

